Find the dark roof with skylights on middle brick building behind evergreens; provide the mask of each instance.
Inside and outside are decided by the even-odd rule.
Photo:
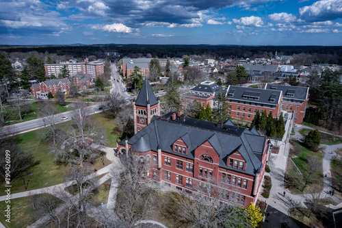
[[[281,91],[279,90],[229,86],[227,98],[237,99],[240,101],[266,103],[269,105],[278,105],[280,94]]]

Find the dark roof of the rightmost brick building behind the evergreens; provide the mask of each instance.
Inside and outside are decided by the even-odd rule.
[[[282,97],[287,99],[298,99],[304,101],[308,95],[308,87],[284,86],[276,84],[266,84],[266,89],[282,91]]]

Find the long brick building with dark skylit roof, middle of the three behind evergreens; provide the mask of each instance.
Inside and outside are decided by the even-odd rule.
[[[230,114],[233,118],[252,122],[257,110],[262,114],[272,112],[272,116],[280,114],[282,91],[228,86],[226,99],[231,105]]]

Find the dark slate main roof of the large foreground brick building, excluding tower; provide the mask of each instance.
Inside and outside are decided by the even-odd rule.
[[[222,125],[194,118],[179,118],[172,121],[170,112],[164,116],[154,116],[152,122],[128,140],[136,152],[157,151],[160,148],[166,153],[194,159],[194,151],[208,141],[220,156],[219,166],[236,170],[240,173],[255,175],[261,168],[265,136],[260,136],[244,127]],[[167,129],[167,131],[166,131]],[[172,151],[172,144],[181,138],[187,145],[187,155]],[[124,140],[119,142],[125,145]],[[239,151],[246,160],[246,170],[238,170],[226,166],[228,155]]]

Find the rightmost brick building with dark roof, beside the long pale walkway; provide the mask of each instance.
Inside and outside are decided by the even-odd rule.
[[[295,123],[303,123],[308,103],[308,87],[266,84],[265,89],[281,91],[281,110],[293,112]]]

